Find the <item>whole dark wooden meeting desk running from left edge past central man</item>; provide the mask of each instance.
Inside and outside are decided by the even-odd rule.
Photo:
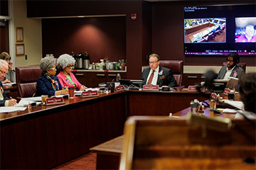
[[[123,91],[65,99],[56,106],[0,113],[1,169],[50,169],[122,135],[129,115],[169,115],[206,96],[163,91]]]

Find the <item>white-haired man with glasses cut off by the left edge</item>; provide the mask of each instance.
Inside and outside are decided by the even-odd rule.
[[[6,77],[8,72],[8,63],[4,60],[0,60],[0,79]],[[0,81],[0,106],[14,106],[16,105],[16,100],[14,98],[10,99],[4,94],[4,87]]]

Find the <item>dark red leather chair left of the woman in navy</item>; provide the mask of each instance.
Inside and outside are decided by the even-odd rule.
[[[41,76],[39,66],[16,67],[16,84],[18,96],[32,97],[36,93],[36,81]]]

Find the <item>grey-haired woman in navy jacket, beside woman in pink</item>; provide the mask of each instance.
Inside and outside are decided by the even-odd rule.
[[[55,76],[55,62],[56,59],[54,57],[44,57],[41,59],[40,68],[42,74],[36,83],[36,96],[68,94],[68,89],[64,89],[60,81],[58,81],[58,77]]]

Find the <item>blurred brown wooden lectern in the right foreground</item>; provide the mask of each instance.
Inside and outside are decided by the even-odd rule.
[[[119,169],[230,169],[255,157],[255,134],[245,120],[132,116],[124,126]]]

